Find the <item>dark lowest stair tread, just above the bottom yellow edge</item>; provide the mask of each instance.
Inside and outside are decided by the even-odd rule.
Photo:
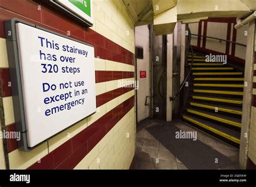
[[[219,131],[221,131],[221,132],[223,132],[223,133],[226,133],[226,134],[228,134],[228,135],[230,135],[230,136],[233,136],[233,137],[235,137],[235,138],[240,139],[240,132],[237,131],[237,130],[233,130],[233,129],[230,129],[230,128],[221,126],[221,125],[219,125],[219,124],[215,124],[215,123],[212,123],[212,122],[209,122],[209,121],[205,121],[205,120],[199,119],[199,118],[194,117],[194,116],[189,115],[189,114],[182,114],[182,115],[183,115],[183,116],[190,117],[190,118],[193,119],[193,120],[196,120],[196,121],[198,121],[198,122],[201,122],[201,123],[203,123],[203,124],[206,124],[207,126],[210,126],[210,127],[214,128],[214,129],[217,129],[217,130],[219,130]]]

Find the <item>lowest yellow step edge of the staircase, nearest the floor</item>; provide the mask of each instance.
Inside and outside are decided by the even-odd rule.
[[[215,133],[215,134],[218,134],[218,135],[220,135],[220,136],[222,136],[222,137],[225,137],[225,138],[227,138],[228,140],[231,140],[232,142],[235,142],[235,143],[240,144],[240,140],[239,140],[238,138],[236,138],[236,137],[233,137],[233,136],[231,136],[231,135],[228,135],[228,134],[226,134],[226,133],[223,133],[223,132],[221,132],[221,131],[219,131],[219,130],[217,130],[217,129],[214,129],[214,128],[212,128],[212,127],[209,127],[209,126],[207,126],[207,125],[204,124],[204,123],[201,123],[201,122],[199,122],[199,121],[196,121],[196,120],[191,119],[190,117],[183,116],[183,119],[185,119],[185,120],[187,120],[187,121],[190,121],[190,122],[192,122],[192,123],[194,123],[194,124],[197,124],[198,126],[203,127],[203,128],[205,128],[205,129],[207,129],[207,130],[210,130],[210,131],[212,131],[212,132]]]

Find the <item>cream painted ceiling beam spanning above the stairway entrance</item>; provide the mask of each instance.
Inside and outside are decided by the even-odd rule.
[[[176,22],[194,23],[207,17],[246,17],[251,9],[242,1],[249,4],[255,0],[178,0],[177,5],[170,9],[162,9],[161,13],[154,15],[154,31],[157,35],[170,34]],[[156,12],[156,2],[165,0],[152,0],[153,12]],[[159,8],[161,7],[159,6]]]

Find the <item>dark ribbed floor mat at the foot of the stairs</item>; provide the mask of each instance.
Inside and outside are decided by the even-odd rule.
[[[182,136],[184,133],[180,134],[184,131],[173,124],[158,124],[146,129],[188,169],[219,169],[233,164],[228,157],[205,143],[199,140],[193,141],[192,138],[184,138]],[[181,135],[181,138],[176,138],[177,134]]]

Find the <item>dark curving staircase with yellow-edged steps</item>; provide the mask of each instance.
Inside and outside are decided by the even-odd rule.
[[[191,54],[187,60],[191,61]],[[190,96],[181,118],[239,148],[244,72],[228,62],[206,63],[205,54],[194,54],[191,76]]]

